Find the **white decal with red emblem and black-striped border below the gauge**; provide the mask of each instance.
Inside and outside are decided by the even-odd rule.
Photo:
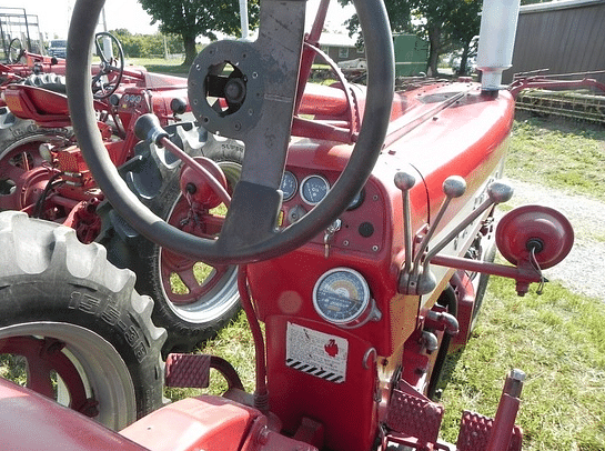
[[[285,364],[307,374],[342,383],[346,375],[349,342],[336,335],[288,323]]]

